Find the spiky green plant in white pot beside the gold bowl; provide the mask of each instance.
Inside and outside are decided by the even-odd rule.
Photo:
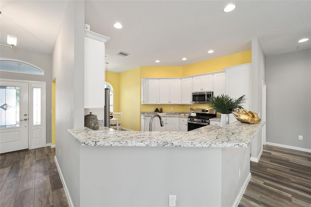
[[[208,99],[208,106],[212,109],[216,109],[217,112],[222,114],[221,126],[229,123],[229,114],[232,113],[235,108],[242,108],[242,104],[245,103],[245,95],[242,95],[238,99],[233,99],[229,95],[221,94],[216,97]]]

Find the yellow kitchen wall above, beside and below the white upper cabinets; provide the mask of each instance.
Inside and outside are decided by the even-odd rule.
[[[208,72],[221,71],[223,68],[252,62],[251,50],[202,61],[186,66],[138,67],[120,73],[120,111],[122,127],[139,131],[140,112],[163,108],[163,112],[189,112],[192,108],[205,108],[207,104],[193,105],[146,105],[141,104],[141,78],[185,77]],[[108,74],[109,76],[109,74]],[[109,79],[109,77],[108,77]],[[109,82],[109,81],[108,81]],[[171,110],[173,108],[173,110]],[[130,124],[131,123],[131,124]]]

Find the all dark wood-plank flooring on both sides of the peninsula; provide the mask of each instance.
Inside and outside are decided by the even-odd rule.
[[[0,207],[68,207],[55,148],[0,155]],[[311,153],[263,146],[239,207],[311,207]]]

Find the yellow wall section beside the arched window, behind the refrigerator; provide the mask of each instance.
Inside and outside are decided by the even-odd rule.
[[[105,82],[108,82],[113,87],[114,112],[120,112],[120,75],[121,73],[105,72]]]

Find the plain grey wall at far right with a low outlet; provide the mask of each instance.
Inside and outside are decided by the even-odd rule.
[[[310,151],[311,49],[267,56],[266,83],[267,142]]]

